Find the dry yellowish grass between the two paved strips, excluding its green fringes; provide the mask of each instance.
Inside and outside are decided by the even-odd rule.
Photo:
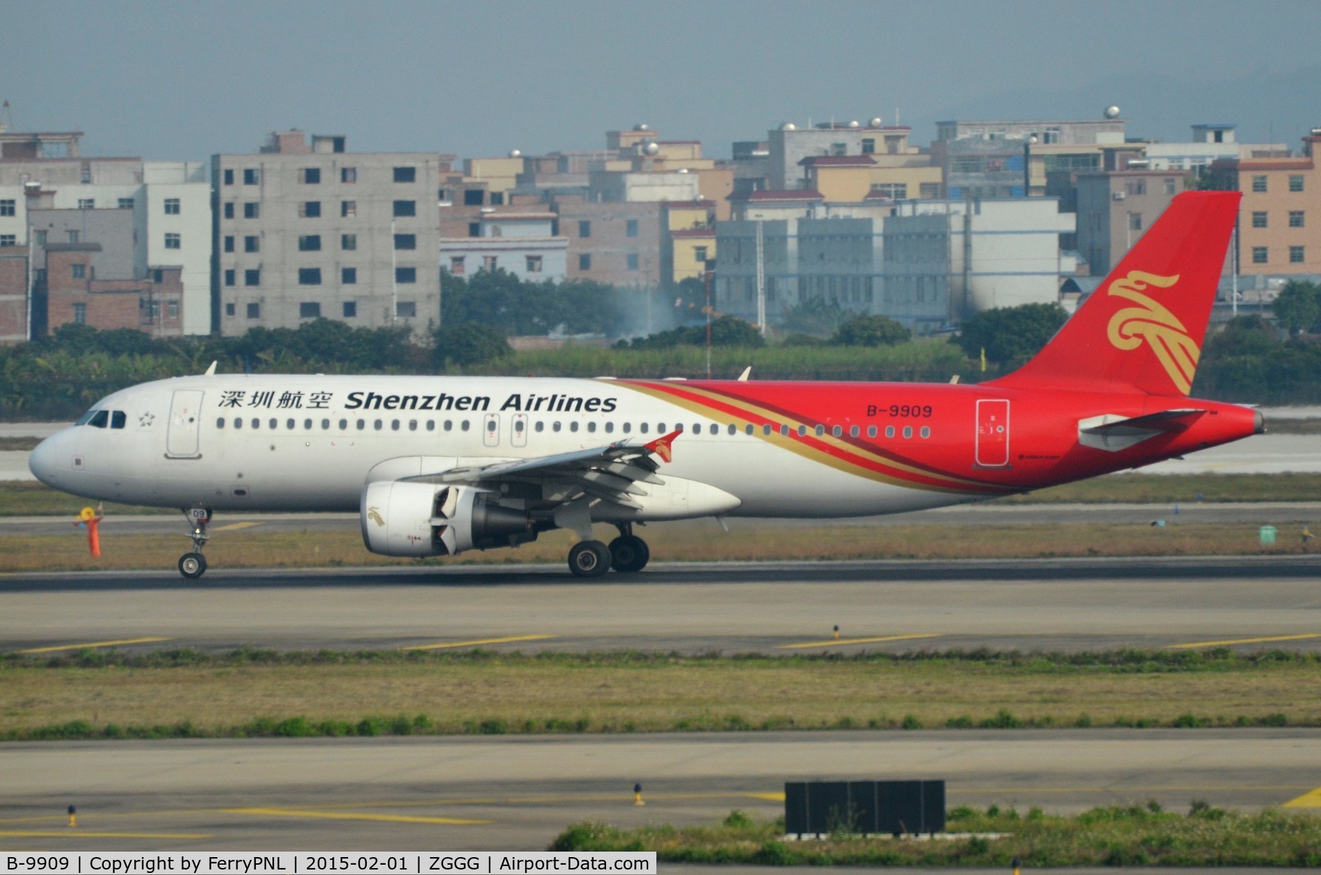
[[[959,661],[675,660],[638,665],[503,658],[182,667],[0,669],[0,732],[192,722],[217,734],[259,718],[355,722],[424,714],[433,731],[498,722],[540,731],[894,727],[905,718],[1170,724],[1283,712],[1321,723],[1321,670],[1285,662],[1226,671],[1034,670]],[[910,722],[911,724],[911,722]]]

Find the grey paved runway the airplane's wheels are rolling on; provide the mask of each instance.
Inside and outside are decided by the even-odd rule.
[[[0,649],[1316,650],[1318,576],[1321,556],[25,574],[0,578]]]

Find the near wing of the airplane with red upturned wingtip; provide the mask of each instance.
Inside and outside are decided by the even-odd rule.
[[[489,465],[452,468],[436,475],[421,475],[406,480],[444,484],[531,484],[555,504],[590,496],[641,509],[633,496],[647,492],[638,484],[664,484],[657,476],[662,461],[672,457],[671,444],[682,432],[672,431],[649,443],[635,439],[620,440],[605,447],[576,449],[552,456],[497,461]]]

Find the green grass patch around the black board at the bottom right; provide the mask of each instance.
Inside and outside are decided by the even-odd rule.
[[[760,866],[1321,866],[1321,816],[1268,809],[1239,814],[1194,801],[1188,814],[1160,805],[1095,808],[1070,817],[1033,808],[958,808],[950,841],[863,838],[838,831],[822,841],[783,841],[783,821],[732,812],[717,826],[624,830],[575,823],[556,851],[657,851],[668,863]],[[983,834],[983,835],[978,835]],[[995,834],[1003,834],[993,838]]]

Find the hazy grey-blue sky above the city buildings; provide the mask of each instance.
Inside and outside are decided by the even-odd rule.
[[[733,140],[880,115],[926,144],[943,118],[1094,118],[1296,147],[1321,124],[1321,3],[164,3],[5,0],[12,128],[89,155],[205,160],[266,132],[460,156],[600,148],[647,122]],[[9,119],[4,119],[9,120]]]

